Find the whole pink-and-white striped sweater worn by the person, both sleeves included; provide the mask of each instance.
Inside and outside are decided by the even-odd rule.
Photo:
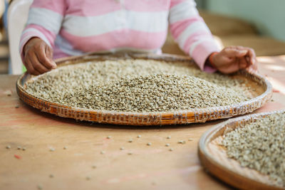
[[[199,16],[194,0],[34,0],[20,41],[20,53],[32,37],[53,48],[53,58],[87,52],[157,52],[167,28],[180,48],[202,70],[219,51]]]

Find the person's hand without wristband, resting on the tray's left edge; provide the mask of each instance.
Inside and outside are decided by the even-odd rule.
[[[52,58],[53,50],[40,38],[31,38],[24,46],[24,65],[32,75],[56,68]]]

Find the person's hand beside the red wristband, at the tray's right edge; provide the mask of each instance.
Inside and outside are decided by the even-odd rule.
[[[234,73],[240,69],[252,68],[257,70],[257,60],[252,48],[229,46],[219,53],[214,53],[210,65],[221,73]]]

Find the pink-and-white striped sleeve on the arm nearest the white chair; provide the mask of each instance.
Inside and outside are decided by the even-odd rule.
[[[53,46],[56,35],[61,28],[66,4],[64,0],[34,0],[28,11],[28,21],[19,45],[21,58],[24,60],[23,48],[33,37],[41,38],[48,46]]]

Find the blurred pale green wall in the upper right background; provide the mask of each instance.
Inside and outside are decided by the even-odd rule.
[[[284,0],[196,0],[199,9],[254,23],[259,33],[285,41]]]

